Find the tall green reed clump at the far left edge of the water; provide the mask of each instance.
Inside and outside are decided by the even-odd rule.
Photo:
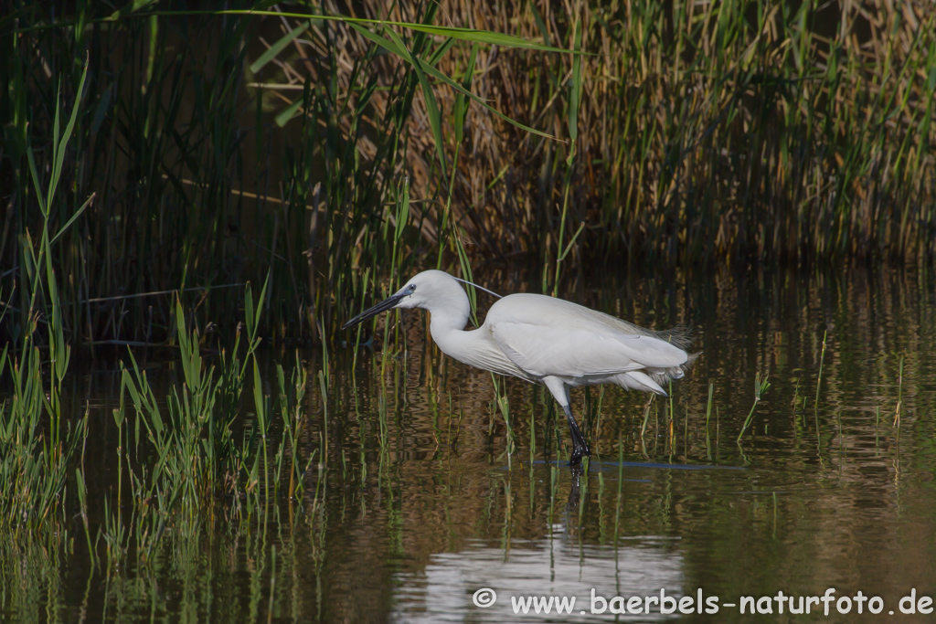
[[[86,77],[85,66],[79,93]],[[75,463],[83,464],[88,434],[88,410],[83,417],[69,420],[62,405],[71,345],[66,339],[53,254],[90,199],[76,209],[75,217],[60,224],[57,231],[52,229],[56,192],[80,109],[76,103],[65,120],[61,100],[56,93],[47,178],[39,174],[32,145],[27,143],[24,147],[35,189],[30,199],[37,204],[38,210],[33,211],[41,216],[41,222],[37,233],[20,240],[19,294],[21,312],[25,313],[18,319],[10,319],[20,324],[15,330],[22,335],[19,350],[9,353],[7,344],[0,352],[0,377],[6,380],[8,372],[13,389],[8,401],[0,401],[0,530],[12,536],[59,530],[66,520],[69,474]],[[4,305],[4,317],[8,307],[8,303]],[[44,332],[40,331],[40,325],[45,326]],[[48,345],[48,359],[40,352],[42,333]],[[83,467],[77,469],[76,475],[81,513],[86,517]]]

